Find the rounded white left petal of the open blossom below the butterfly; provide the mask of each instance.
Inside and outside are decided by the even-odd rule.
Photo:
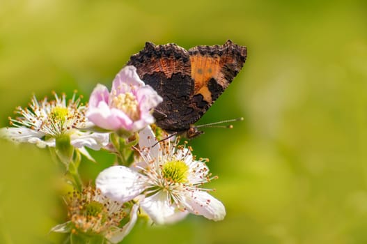
[[[104,169],[95,180],[96,188],[103,195],[120,201],[130,201],[146,187],[146,176],[124,166],[112,166]]]

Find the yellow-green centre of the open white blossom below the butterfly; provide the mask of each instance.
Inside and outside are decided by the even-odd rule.
[[[168,181],[185,183],[189,175],[189,167],[181,160],[169,161],[163,165],[162,174]]]

